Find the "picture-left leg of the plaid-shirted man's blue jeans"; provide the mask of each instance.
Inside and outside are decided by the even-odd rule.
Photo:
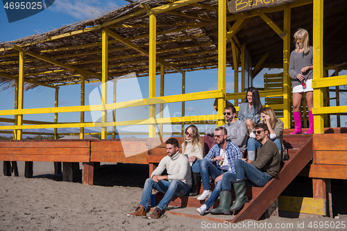
[[[203,159],[200,162],[200,174],[201,181],[203,182],[203,190],[210,190],[210,175],[213,180],[217,178],[217,176],[221,176],[221,174],[225,173],[226,170],[217,169],[217,166],[214,166],[209,160]]]

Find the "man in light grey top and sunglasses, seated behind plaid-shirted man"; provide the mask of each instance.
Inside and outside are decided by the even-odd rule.
[[[228,131],[228,136],[226,137],[228,142],[231,142],[232,144],[235,144],[238,146],[242,153],[246,151],[246,144],[247,144],[247,137],[248,137],[248,130],[246,127],[246,123],[244,121],[236,120],[236,110],[234,106],[229,105],[224,108],[224,118],[226,119],[226,124],[223,125],[224,128]],[[214,128],[208,128],[205,131],[205,138],[204,138],[204,148],[205,153],[207,154],[210,148],[216,144],[214,143]],[[208,150],[206,150],[208,149]]]

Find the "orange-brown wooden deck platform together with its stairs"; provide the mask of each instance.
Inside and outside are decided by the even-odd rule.
[[[282,166],[278,177],[263,188],[247,189],[251,201],[233,217],[232,222],[259,219],[305,166],[308,177],[312,178],[313,198],[322,200],[327,207],[326,186],[330,179],[347,179],[347,128],[328,128],[325,134],[319,135],[289,135],[289,132],[291,130],[285,130],[284,136],[285,146],[289,148],[289,160]],[[71,169],[72,163],[83,162],[83,184],[92,185],[95,162],[149,164],[151,173],[162,157],[167,155],[166,139],[1,141],[0,160],[4,161],[3,171],[7,176],[10,175],[10,162],[26,161],[26,177],[33,176],[32,162],[63,162],[65,168]],[[182,142],[181,138],[178,140]],[[157,199],[160,199],[160,194]],[[192,197],[176,197],[170,205],[199,207],[202,203]],[[328,215],[328,212],[323,215]]]

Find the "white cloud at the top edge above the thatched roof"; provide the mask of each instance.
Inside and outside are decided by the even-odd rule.
[[[87,19],[98,17],[104,14],[112,8],[117,8],[119,5],[117,1],[97,1],[97,0],[56,0],[49,10],[55,12],[62,12],[67,15],[71,15],[76,19]]]

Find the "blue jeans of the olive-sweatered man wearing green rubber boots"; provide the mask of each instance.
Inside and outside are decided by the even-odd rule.
[[[247,177],[257,187],[263,187],[272,178],[268,173],[241,159],[235,160],[235,171],[237,180],[243,180]]]

